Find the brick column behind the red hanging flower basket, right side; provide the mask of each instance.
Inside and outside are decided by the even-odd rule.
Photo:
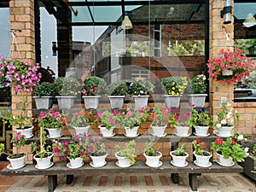
[[[220,16],[220,11],[224,8],[224,1],[210,0],[210,58],[220,55],[220,49],[226,46],[226,32],[230,33],[230,45],[234,46],[234,18],[228,25],[224,25],[224,19]],[[232,2],[232,15],[234,15],[234,1]],[[224,27],[225,28],[224,28]],[[234,99],[233,84],[219,84],[218,81],[210,79],[210,112],[216,114],[220,107],[220,98],[227,97]],[[214,119],[217,116],[213,116]]]

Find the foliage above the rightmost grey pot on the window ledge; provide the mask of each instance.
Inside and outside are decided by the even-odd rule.
[[[207,82],[204,74],[198,74],[189,80],[189,88],[193,94],[204,94],[207,92]]]

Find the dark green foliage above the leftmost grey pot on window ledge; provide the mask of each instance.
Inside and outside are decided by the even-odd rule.
[[[55,96],[55,84],[43,82],[36,85],[34,96]]]

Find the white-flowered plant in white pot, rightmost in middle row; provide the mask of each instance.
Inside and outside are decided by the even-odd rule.
[[[218,137],[230,137],[234,125],[239,120],[239,113],[234,108],[230,108],[230,102],[222,102],[217,113],[217,120],[213,123],[213,128],[218,129]]]

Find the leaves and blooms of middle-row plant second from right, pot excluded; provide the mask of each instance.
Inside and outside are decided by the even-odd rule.
[[[206,108],[200,108],[198,110],[193,108],[190,120],[193,126],[209,126],[212,124],[212,118],[207,114]]]

